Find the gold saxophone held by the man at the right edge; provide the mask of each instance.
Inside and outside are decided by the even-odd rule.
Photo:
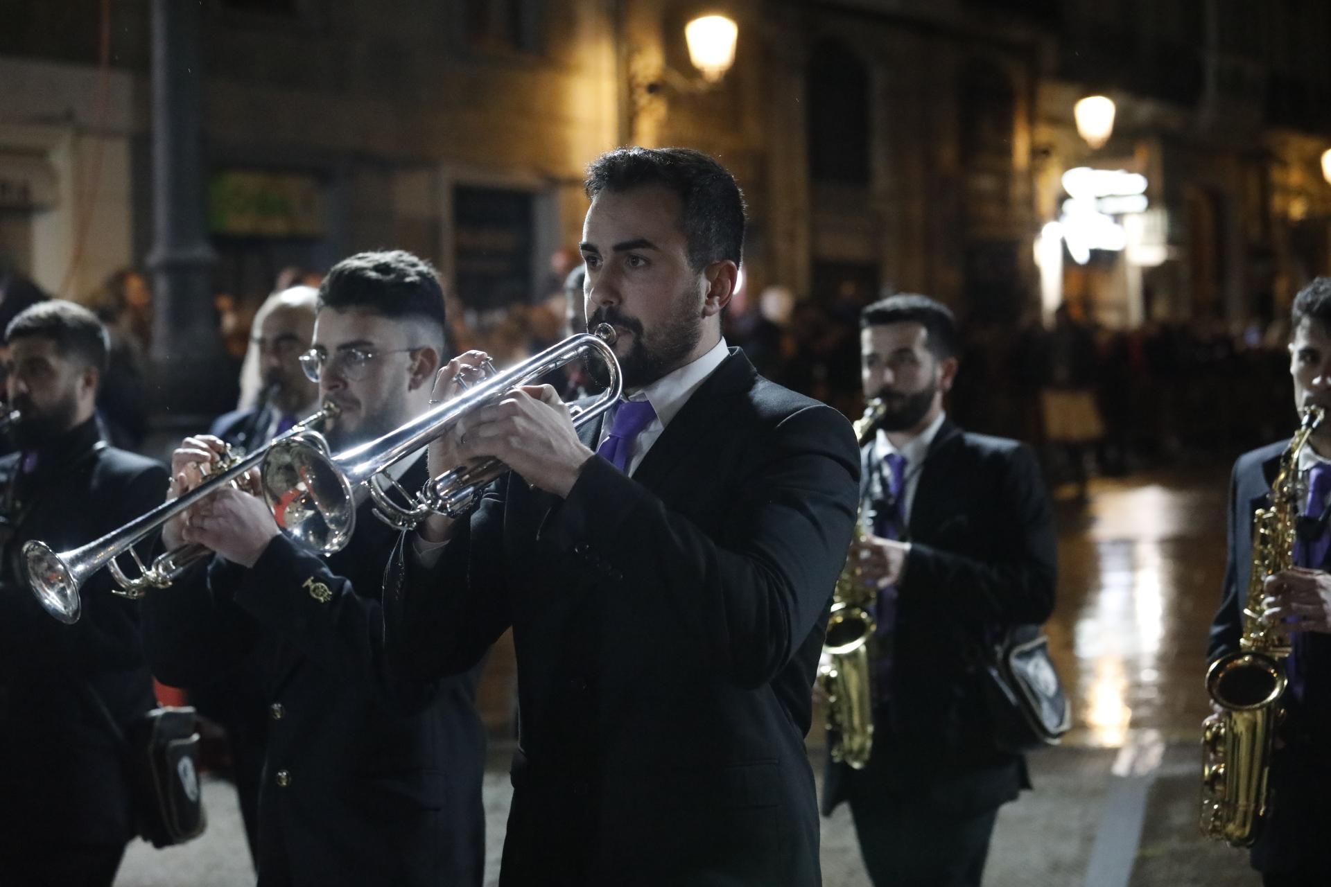
[[[1206,672],[1206,690],[1219,713],[1202,722],[1202,834],[1247,847],[1266,815],[1271,751],[1284,694],[1288,633],[1266,625],[1263,581],[1294,565],[1299,516],[1298,457],[1322,423],[1324,410],[1303,411],[1299,431],[1280,456],[1271,507],[1252,515],[1252,572],[1243,606],[1238,653],[1222,656]]]

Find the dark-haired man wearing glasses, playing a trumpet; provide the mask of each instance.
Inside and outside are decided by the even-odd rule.
[[[429,408],[446,354],[434,270],[402,251],[339,262],[319,289],[302,356],[335,416],[334,448]],[[173,489],[201,481],[222,444],[186,439]],[[426,481],[425,453],[398,480]],[[390,493],[391,495],[391,493]],[[258,801],[260,884],[473,884],[482,878],[483,733],[475,674],[401,676],[382,645],[383,565],[398,532],[359,503],[349,544],[326,559],[278,532],[264,500],[221,489],[164,527],[164,543],[216,556],[144,604],[156,674],[205,685],[258,661],[269,711]]]

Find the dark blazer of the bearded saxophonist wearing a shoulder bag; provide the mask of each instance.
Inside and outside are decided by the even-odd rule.
[[[872,443],[861,451],[865,476],[872,452]],[[1058,543],[1030,448],[945,419],[921,468],[909,541],[892,702],[876,713],[864,770],[828,759],[828,814],[856,793],[890,793],[969,818],[1029,787],[1025,762],[988,739],[976,664],[986,637],[1054,609]]]

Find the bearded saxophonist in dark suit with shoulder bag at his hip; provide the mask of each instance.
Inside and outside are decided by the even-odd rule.
[[[864,396],[886,407],[861,453],[870,533],[851,552],[880,589],[873,753],[864,770],[829,758],[823,809],[849,801],[874,884],[976,887],[998,807],[1029,787],[1025,761],[990,743],[976,665],[1053,612],[1049,497],[1028,447],[948,419],[952,311],[894,295],[860,326]]]

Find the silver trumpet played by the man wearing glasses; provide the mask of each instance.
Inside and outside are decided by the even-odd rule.
[[[79,621],[83,602],[79,598],[79,589],[88,577],[102,567],[110,569],[118,589],[112,589],[114,594],[138,600],[150,588],[168,588],[193,564],[212,556],[212,551],[200,544],[188,544],[158,555],[150,565],[145,565],[134,551],[134,545],[157,532],[162,524],[181,512],[189,509],[218,489],[238,481],[245,473],[264,460],[264,455],[278,442],[310,432],[317,423],[326,422],[338,414],[338,407],[333,403],[323,404],[318,412],[313,412],[305,419],[291,426],[291,430],[274,438],[268,447],[261,447],[249,455],[232,453],[224,456],[221,468],[214,469],[204,483],[184,496],[165,501],[150,512],[132,520],[120,529],[114,529],[98,540],[91,541],[80,548],[56,553],[45,543],[31,541],[23,547],[23,574],[36,594],[37,601],[48,613],[67,625]],[[117,557],[129,552],[138,568],[137,576],[129,576],[116,561]]]

